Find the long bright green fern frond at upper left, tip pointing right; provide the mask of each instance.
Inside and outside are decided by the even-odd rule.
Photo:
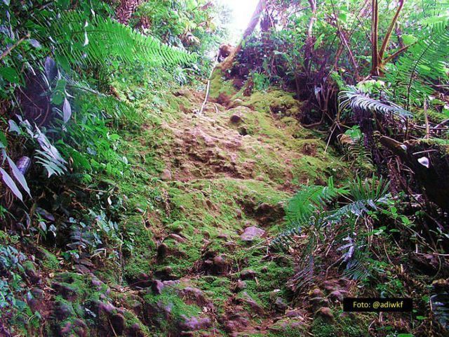
[[[56,42],[56,53],[72,64],[120,60],[175,65],[196,60],[195,55],[161,44],[111,18],[95,16],[87,20],[83,13],[72,11],[48,28]]]

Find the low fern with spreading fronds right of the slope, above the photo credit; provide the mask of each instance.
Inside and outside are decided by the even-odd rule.
[[[307,233],[307,242],[302,243],[304,263],[292,279],[294,291],[302,291],[314,278],[314,260],[319,251],[333,249],[337,258],[330,266],[344,266],[349,277],[361,279],[369,275],[369,232],[373,231],[375,214],[389,204],[388,188],[389,183],[373,176],[356,178],[338,188],[329,180],[326,187],[304,186],[297,192],[287,207],[288,230],[271,243],[273,248],[286,249],[298,244],[298,234]]]

